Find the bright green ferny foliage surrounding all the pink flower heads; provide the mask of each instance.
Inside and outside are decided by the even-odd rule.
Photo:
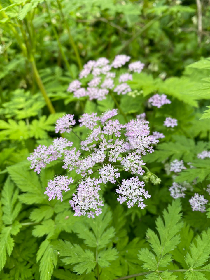
[[[197,158],[210,148],[209,2],[202,1],[201,33],[197,12],[196,1],[0,2],[0,279],[209,279],[210,211],[192,212],[188,203],[194,192],[210,201],[210,160]],[[128,119],[146,112],[151,130],[166,136],[144,159],[162,183],[147,182],[146,209],[118,205],[107,185],[103,214],[75,217],[68,203],[74,188],[63,203],[44,195],[62,165],[37,175],[26,158],[52,143],[55,121],[65,113],[77,118],[114,108],[110,98],[76,99],[67,87],[88,60],[117,54],[145,63],[130,82],[133,92],[118,102]],[[149,107],[154,93],[172,103]],[[169,115],[178,127],[162,126]],[[181,201],[168,191],[174,159],[194,166],[174,178],[188,184]]]

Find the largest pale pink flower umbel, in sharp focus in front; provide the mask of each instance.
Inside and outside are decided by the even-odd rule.
[[[80,139],[78,150],[73,142],[59,137],[49,147],[38,146],[28,157],[31,169],[37,173],[49,162],[62,159],[64,169],[74,170],[81,175],[76,192],[69,201],[77,216],[87,214],[89,218],[94,218],[101,213],[103,201],[99,191],[107,182],[118,183],[117,200],[120,204],[127,203],[128,208],[137,204],[143,209],[146,206],[144,199],[150,197],[144,188],[145,183],[139,181],[137,175],[144,174],[142,155],[154,151],[152,145],[158,142],[158,133],[150,135],[149,122],[143,118],[121,124],[116,116],[117,109],[100,116],[97,113],[85,113],[79,123],[90,129],[90,133],[86,139]],[[55,132],[73,133],[75,123],[74,115],[64,115],[57,120]],[[127,171],[130,178],[120,178],[121,170]],[[94,177],[96,172],[98,178]],[[156,179],[154,183],[160,183],[160,179]],[[49,200],[55,197],[62,200],[62,192],[68,191],[73,181],[74,178],[68,179],[67,176],[57,176],[50,180],[45,192]]]

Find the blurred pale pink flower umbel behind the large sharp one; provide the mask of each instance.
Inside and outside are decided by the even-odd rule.
[[[74,80],[69,84],[67,91],[73,92],[77,98],[87,96],[90,100],[106,99],[110,90],[118,95],[131,92],[131,88],[126,82],[133,79],[132,74],[121,74],[118,80],[115,80],[116,74],[111,71],[112,68],[115,71],[115,69],[124,66],[129,60],[130,57],[127,55],[117,55],[112,63],[105,57],[90,60],[79,74],[79,79],[89,77],[88,84],[83,85],[80,80]],[[143,67],[143,63],[136,61],[128,65],[128,71],[140,73]],[[120,84],[115,85],[117,83]]]

